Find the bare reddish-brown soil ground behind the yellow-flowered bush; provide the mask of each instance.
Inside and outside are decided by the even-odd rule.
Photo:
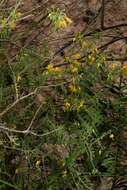
[[[11,7],[15,4],[15,0],[6,1],[6,6]],[[43,22],[47,8],[55,5],[64,9],[66,14],[73,20],[67,29],[54,31],[48,19]],[[102,20],[102,3],[101,0],[22,0],[19,9],[23,13],[23,18],[17,29],[14,31],[13,41],[19,46],[43,46],[44,42],[48,42],[51,54],[54,55],[60,48],[64,47],[70,41],[73,34],[83,31],[87,34],[100,28]],[[104,6],[104,26],[111,27],[114,25],[125,24],[127,18],[127,1],[126,0],[105,0]],[[39,23],[38,29],[30,30],[31,23]],[[101,33],[99,46],[114,39],[114,36],[126,36],[127,27],[119,27],[117,30],[105,30]],[[20,33],[20,39],[17,35]],[[106,47],[105,51],[113,52],[116,57],[125,55],[125,40],[119,40]],[[64,48],[68,54],[68,48]],[[14,52],[14,51],[13,51]],[[60,54],[55,56],[55,62],[60,61]]]

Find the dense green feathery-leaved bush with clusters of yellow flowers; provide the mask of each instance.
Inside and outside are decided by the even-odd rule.
[[[126,176],[127,66],[82,33],[60,64],[47,47],[19,48],[10,60],[20,17],[13,10],[1,19],[0,189],[93,190],[105,177],[113,184]],[[54,7],[48,19],[56,32],[72,23]]]

